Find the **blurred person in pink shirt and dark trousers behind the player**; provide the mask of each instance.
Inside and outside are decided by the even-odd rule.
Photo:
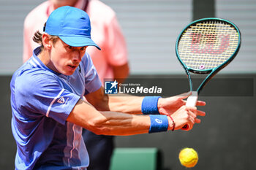
[[[127,45],[116,18],[116,13],[99,0],[48,0],[35,7],[26,16],[23,29],[23,62],[26,62],[39,45],[33,41],[36,31],[42,28],[54,9],[62,6],[83,9],[91,20],[91,38],[102,50],[88,47],[99,78],[124,80],[129,75]],[[89,170],[109,169],[113,152],[113,136],[96,135],[84,129],[83,139],[90,155]]]

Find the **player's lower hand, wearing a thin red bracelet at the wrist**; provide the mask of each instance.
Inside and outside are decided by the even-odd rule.
[[[182,106],[176,112],[173,113],[172,117],[176,123],[175,130],[182,128],[184,125],[189,124],[189,131],[193,128],[195,123],[200,123],[201,120],[197,116],[205,116],[206,112],[197,110],[196,107],[186,107]]]

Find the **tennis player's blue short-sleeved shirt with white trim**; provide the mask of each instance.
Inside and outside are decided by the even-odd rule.
[[[71,76],[48,69],[39,53],[38,47],[10,83],[15,169],[86,169],[82,128],[66,120],[78,100],[102,83],[87,53]]]

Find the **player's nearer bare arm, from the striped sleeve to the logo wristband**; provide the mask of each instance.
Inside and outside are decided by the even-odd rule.
[[[167,121],[165,131],[172,129],[170,117],[160,117]],[[70,112],[67,121],[94,132],[105,135],[146,134],[150,131],[152,120],[149,115],[129,115],[120,112],[99,112],[94,107],[80,100]],[[157,121],[157,120],[156,120]],[[156,123],[153,123],[154,125]]]

